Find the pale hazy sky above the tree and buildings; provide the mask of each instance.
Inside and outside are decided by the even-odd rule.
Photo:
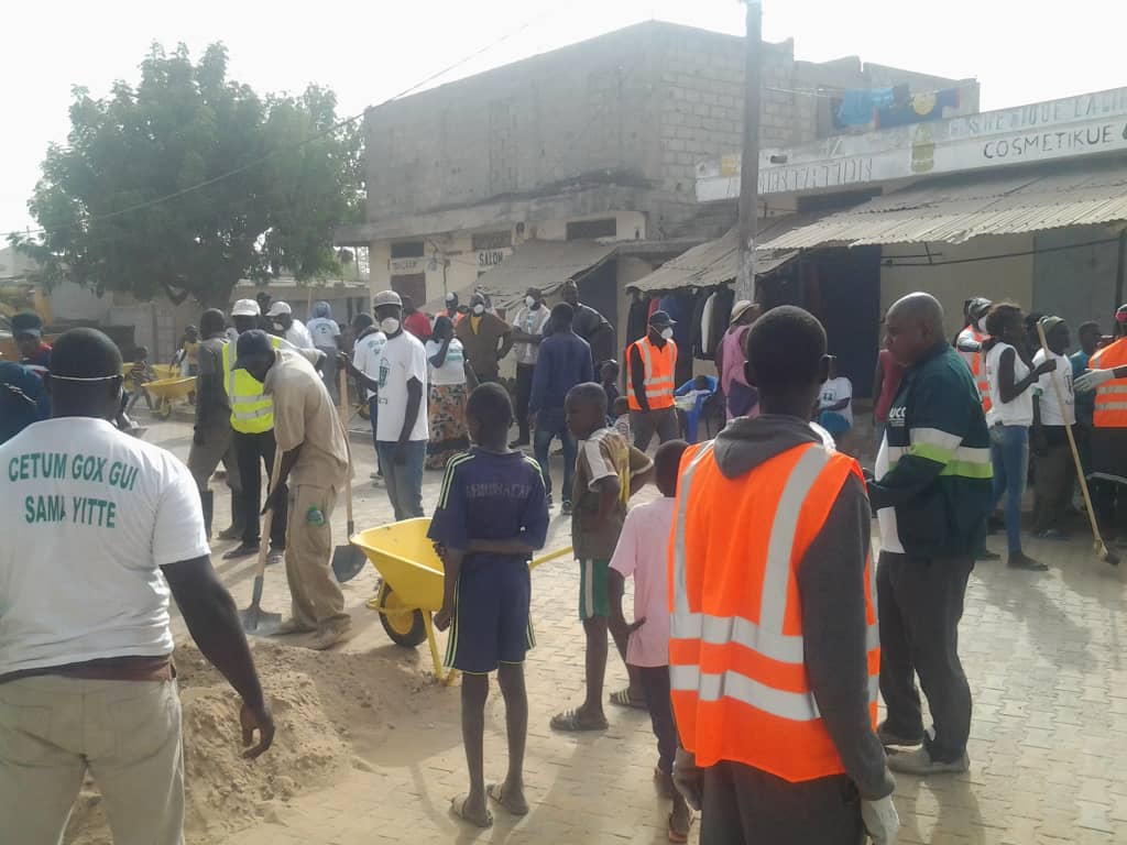
[[[1110,0],[763,0],[766,41],[797,59],[863,61],[976,78],[983,109],[1127,86],[1127,3]],[[431,84],[649,19],[740,34],[737,0],[37,0],[5,9],[0,42],[0,233],[27,212],[47,145],[64,142],[71,87],[136,81],[153,42],[198,56],[223,42],[231,78],[259,94],[336,91],[358,114],[470,57]],[[472,56],[472,57],[471,57]]]

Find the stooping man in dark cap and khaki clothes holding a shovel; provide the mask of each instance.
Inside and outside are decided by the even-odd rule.
[[[311,648],[327,649],[352,624],[332,577],[330,521],[348,477],[340,419],[320,375],[301,350],[275,349],[264,331],[239,336],[236,370],[245,370],[274,400],[274,437],[282,453],[278,483],[265,510],[287,513],[285,571],[291,619],[278,633],[316,633]],[[286,493],[289,488],[289,493]]]

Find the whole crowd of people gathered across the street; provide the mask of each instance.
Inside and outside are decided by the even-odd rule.
[[[424,515],[426,466],[445,472],[429,536],[446,570],[435,625],[452,629],[446,662],[463,673],[470,785],[452,801],[455,816],[488,827],[490,802],[529,812],[527,561],[547,540],[550,448],[560,439],[585,687],[551,728],[604,731],[607,701],[648,710],[672,842],[687,839],[694,811],[704,845],[852,845],[866,833],[893,842],[893,772],[970,765],[958,625],[975,561],[990,557],[997,506],[1006,563],[1045,569],[1022,546],[1030,451],[1038,537],[1065,536],[1076,482],[1071,439],[1101,533],[1127,527],[1127,305],[1113,337],[1079,327],[1081,348],[1070,358],[1071,331],[1057,317],[975,299],[952,343],[933,296],[900,299],[885,317],[870,471],[836,447],[852,427],[852,384],[835,373],[808,312],[735,303],[718,375],[677,386],[674,321],[654,311],[625,349],[620,385],[606,330],[574,293],[548,310],[532,288],[509,324],[481,292],[464,311],[447,300],[432,322],[383,291],[374,319],[361,314],[348,327],[350,355],[327,303],[308,327],[286,303],[266,303],[264,313],[264,303],[239,300],[230,328],[221,311],[205,311],[190,341],[187,465],[110,425],[133,370],[105,335],[73,329],[52,349],[37,318],[14,320],[23,363],[0,371],[9,481],[0,490],[9,537],[0,546],[0,827],[57,840],[90,770],[119,842],[180,840],[169,593],[242,700],[248,755],[269,747],[269,708],[211,566],[208,484],[222,462],[232,525],[221,536],[240,541],[224,557],[258,552],[267,542],[260,517],[270,514],[269,555],[284,557],[292,596],[279,633],[307,633],[317,649],[346,637],[350,619],[330,567],[331,516],[352,483],[347,432],[326,379],[337,367],[367,392],[396,519]],[[513,348],[515,415],[497,383]],[[703,443],[678,438],[678,408],[684,421],[695,412],[695,427],[718,394],[724,429]],[[529,445],[534,457],[520,451]],[[264,468],[274,478],[265,507]],[[647,483],[660,496],[630,509]],[[69,563],[76,548],[81,570]],[[82,589],[55,589],[76,579]],[[629,684],[604,695],[611,640]],[[492,671],[509,748],[505,779],[487,784]],[[887,708],[879,723],[878,694]],[[99,740],[117,736],[123,719],[136,726],[130,742]]]

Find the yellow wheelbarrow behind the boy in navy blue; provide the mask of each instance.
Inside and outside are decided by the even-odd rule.
[[[353,545],[380,571],[380,586],[367,607],[380,614],[380,622],[397,646],[416,648],[424,640],[431,646],[434,674],[450,684],[456,671],[444,671],[434,633],[434,614],[442,610],[442,561],[427,537],[429,517],[403,519],[379,528],[369,528],[349,537]],[[529,569],[535,569],[556,558],[569,554],[571,548],[559,549],[535,558]]]

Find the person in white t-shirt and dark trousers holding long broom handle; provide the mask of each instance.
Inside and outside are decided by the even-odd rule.
[[[1041,319],[1041,328],[1045,329],[1049,354],[1046,356],[1044,349],[1038,349],[1033,356],[1033,366],[1048,359],[1056,361],[1057,365],[1053,372],[1041,373],[1033,388],[1033,429],[1030,442],[1037,468],[1033,473],[1033,535],[1041,540],[1065,540],[1067,535],[1061,530],[1061,519],[1072,500],[1075,475],[1065,428],[1076,424],[1072,362],[1064,355],[1070,345],[1068,326],[1059,317],[1046,317]]]

